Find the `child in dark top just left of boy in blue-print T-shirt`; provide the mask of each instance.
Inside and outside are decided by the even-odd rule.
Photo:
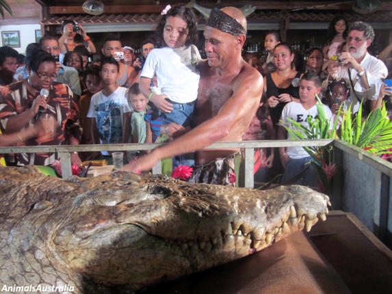
[[[91,124],[90,119],[87,118],[87,113],[90,108],[92,95],[103,89],[100,70],[101,68],[99,66],[92,65],[86,68],[83,72],[83,80],[86,83],[87,92],[79,99],[80,124],[83,128],[80,144],[93,144]],[[97,132],[96,129],[94,129],[94,131]],[[99,137],[98,133],[95,134],[95,137]],[[81,152],[79,156],[82,161],[86,161],[94,159],[94,157],[98,157],[99,154],[99,152]]]

